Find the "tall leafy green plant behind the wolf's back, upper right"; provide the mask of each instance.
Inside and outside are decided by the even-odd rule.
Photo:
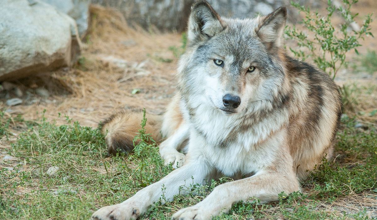
[[[302,22],[308,33],[299,31],[295,26],[286,26],[286,37],[297,41],[298,46],[305,48],[305,51],[293,48],[290,48],[290,51],[302,60],[311,57],[319,69],[335,78],[340,67],[347,65],[345,61],[347,52],[354,49],[358,54],[356,48],[361,46],[360,39],[364,39],[367,35],[373,36],[370,32],[371,15],[366,16],[360,30],[354,30],[352,33],[348,31],[349,24],[355,22],[358,15],[351,13],[351,6],[357,2],[358,0],[343,0],[345,7],[336,8],[331,0],[328,0],[326,16],[320,15],[318,11],[312,13],[309,7],[305,8],[299,3],[291,2],[293,7],[305,14]],[[346,21],[340,25],[340,29],[331,22],[336,11]]]

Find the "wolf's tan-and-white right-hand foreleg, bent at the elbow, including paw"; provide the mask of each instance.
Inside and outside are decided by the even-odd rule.
[[[213,216],[229,211],[236,202],[250,201],[253,198],[258,198],[262,203],[276,201],[280,192],[290,194],[299,189],[299,183],[293,172],[287,174],[262,171],[251,177],[217,186],[204,200],[179,210],[172,219],[209,220]]]

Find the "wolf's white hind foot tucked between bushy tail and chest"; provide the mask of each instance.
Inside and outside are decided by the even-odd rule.
[[[183,165],[185,155],[178,152],[178,149],[188,137],[189,127],[182,123],[173,135],[159,145],[160,155],[164,159],[165,165],[172,163],[174,169]]]

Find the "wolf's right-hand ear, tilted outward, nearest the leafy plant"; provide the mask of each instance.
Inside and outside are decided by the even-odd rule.
[[[268,48],[280,47],[280,40],[287,20],[287,9],[280,7],[270,14],[261,17],[256,34],[267,44]]]

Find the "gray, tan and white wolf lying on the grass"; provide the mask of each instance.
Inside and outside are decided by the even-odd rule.
[[[136,219],[162,194],[170,201],[184,193],[181,186],[222,175],[234,181],[216,186],[172,219],[207,220],[239,201],[266,203],[281,192],[300,191],[299,181],[333,153],[342,103],[327,74],[287,55],[286,18],[286,8],[232,19],[206,1],[194,3],[177,93],[162,122],[151,116],[147,128],[158,136],[161,126],[167,139],[160,154],[176,169],[126,201],[99,209],[92,219]],[[121,112],[104,123],[109,152],[132,148],[136,115],[141,114]]]

